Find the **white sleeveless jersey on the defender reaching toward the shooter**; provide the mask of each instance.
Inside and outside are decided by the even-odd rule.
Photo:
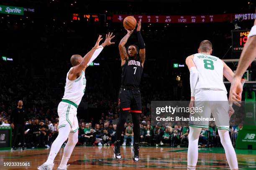
[[[72,68],[73,67],[69,69],[69,72]],[[65,92],[62,100],[69,100],[79,105],[84,95],[86,86],[84,71],[82,71],[81,76],[78,77],[76,80],[69,80],[69,72],[67,73]]]

